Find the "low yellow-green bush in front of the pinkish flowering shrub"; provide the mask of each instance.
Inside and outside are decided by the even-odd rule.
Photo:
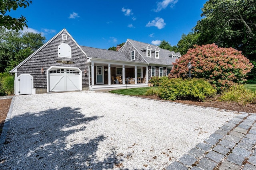
[[[159,86],[158,96],[164,100],[199,100],[216,94],[216,89],[202,78],[172,78]]]

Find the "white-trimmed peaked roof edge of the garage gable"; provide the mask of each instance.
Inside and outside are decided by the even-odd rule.
[[[48,45],[50,42],[52,42],[54,39],[56,39],[56,37],[58,37],[60,34],[62,34],[63,32],[65,32],[66,34],[68,34],[68,36],[72,39],[72,41],[74,41],[74,43],[77,45],[77,47],[82,51],[82,53],[84,53],[84,55],[86,57],[87,54],[81,49],[81,47],[78,45],[78,43],[76,43],[76,41],[74,40],[74,38],[70,35],[70,33],[68,33],[68,31],[64,28],[62,29],[58,34],[56,34],[54,37],[52,37],[49,41],[47,41],[44,45],[42,45],[42,47],[40,47],[38,50],[36,50],[34,53],[32,53],[30,56],[28,56],[24,61],[22,61],[20,64],[18,64],[16,67],[14,67],[12,70],[10,70],[11,73],[17,72],[17,69],[22,66],[24,63],[26,63],[29,59],[31,59],[34,55],[36,55],[39,51],[41,51],[44,47],[46,47],[46,45]]]

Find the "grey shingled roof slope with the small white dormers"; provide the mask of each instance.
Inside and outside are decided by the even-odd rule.
[[[172,65],[172,63],[174,63],[176,61],[176,59],[178,59],[178,57],[173,57],[173,58],[169,57],[170,55],[175,56],[174,51],[161,49],[157,45],[142,43],[140,41],[135,41],[132,39],[127,39],[127,41],[129,41],[134,46],[134,48],[138,51],[138,53],[140,53],[140,55],[144,58],[144,60],[149,64]],[[152,48],[152,51],[154,51],[157,47],[159,48],[159,59],[156,59],[155,56],[153,56],[153,55],[152,55],[152,57],[146,56],[146,53],[143,51],[146,50],[148,45],[150,45],[150,47]],[[122,50],[123,50],[123,48],[121,48],[119,51],[122,51]]]

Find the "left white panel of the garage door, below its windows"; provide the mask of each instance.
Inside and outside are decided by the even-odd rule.
[[[64,75],[50,74],[50,91],[60,92],[65,90]]]

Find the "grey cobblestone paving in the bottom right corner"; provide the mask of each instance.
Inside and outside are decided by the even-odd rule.
[[[241,113],[166,170],[256,170],[256,114]]]

